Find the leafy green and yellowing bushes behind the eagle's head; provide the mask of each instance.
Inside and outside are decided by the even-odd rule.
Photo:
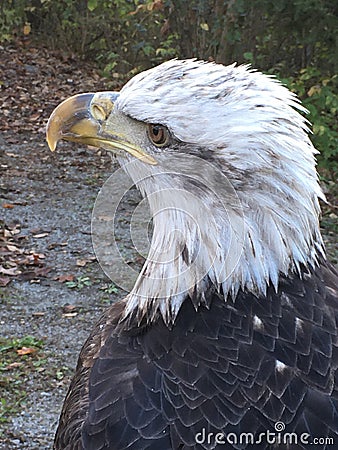
[[[251,63],[302,99],[319,163],[338,169],[333,0],[2,0],[0,41],[29,36],[129,78],[173,57]]]

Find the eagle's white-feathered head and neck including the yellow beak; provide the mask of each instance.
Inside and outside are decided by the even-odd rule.
[[[153,215],[148,258],[127,314],[172,322],[213,286],[263,295],[323,254],[323,197],[296,96],[247,66],[172,60],[120,92],[75,95],[47,125],[60,139],[116,155]],[[197,300],[196,300],[197,298]]]

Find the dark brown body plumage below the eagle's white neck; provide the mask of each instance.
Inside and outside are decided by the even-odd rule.
[[[338,445],[337,285],[324,262],[266,297],[225,301],[210,287],[208,307],[187,298],[171,328],[160,316],[120,322],[125,302],[114,304],[81,351],[54,448],[264,449],[264,440],[217,446],[215,436],[258,437],[278,421]]]

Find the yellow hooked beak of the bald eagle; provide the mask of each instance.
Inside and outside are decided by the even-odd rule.
[[[157,161],[117,130],[107,132],[105,124],[114,108],[116,92],[78,94],[69,97],[52,112],[47,123],[47,143],[54,151],[59,140],[104,148],[114,154],[127,152],[147,164]]]

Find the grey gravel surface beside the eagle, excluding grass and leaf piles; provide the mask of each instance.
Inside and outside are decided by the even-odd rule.
[[[25,401],[0,422],[0,449],[47,450],[89,330],[107,304],[125,295],[115,287],[109,291],[111,280],[96,262],[91,242],[91,210],[116,165],[108,155],[68,144],[52,154],[43,141],[36,145],[29,137],[22,137],[20,144],[3,143],[0,155],[1,220],[17,232],[10,244],[25,255],[41,257],[37,268],[18,264],[18,274],[0,288],[1,337],[34,336],[43,341],[44,357],[43,366],[21,385]],[[138,192],[131,190],[122,217],[138,199]],[[117,225],[121,240],[126,223],[119,220]],[[128,247],[122,250],[132,264],[135,255]],[[16,257],[22,255],[11,260]],[[84,278],[89,286],[70,288],[62,282]]]

